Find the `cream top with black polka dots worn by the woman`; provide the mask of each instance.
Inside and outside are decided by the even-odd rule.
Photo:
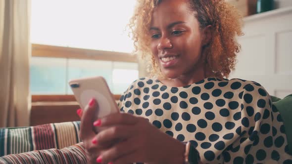
[[[257,82],[206,78],[169,87],[142,78],[118,106],[179,141],[190,141],[204,164],[292,164],[282,118]]]

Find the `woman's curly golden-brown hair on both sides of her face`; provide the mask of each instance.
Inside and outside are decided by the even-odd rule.
[[[128,27],[134,41],[134,53],[146,62],[150,76],[161,77],[161,71],[150,50],[149,28],[153,9],[162,0],[137,0]],[[212,39],[202,47],[206,64],[216,78],[228,78],[235,70],[236,55],[241,50],[236,36],[242,36],[242,15],[224,0],[189,0],[200,29],[211,25]]]

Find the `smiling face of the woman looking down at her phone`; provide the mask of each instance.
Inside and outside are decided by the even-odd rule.
[[[153,10],[151,51],[162,73],[175,79],[198,69],[202,37],[188,0],[163,0]]]

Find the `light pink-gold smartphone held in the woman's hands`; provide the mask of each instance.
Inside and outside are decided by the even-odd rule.
[[[69,85],[81,109],[85,109],[91,98],[97,100],[95,120],[109,114],[119,113],[117,103],[103,77],[71,80]]]

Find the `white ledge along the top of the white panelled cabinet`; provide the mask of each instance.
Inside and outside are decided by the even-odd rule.
[[[287,13],[287,12],[292,12],[292,6],[284,7],[284,8],[278,8],[278,9],[274,9],[274,10],[271,10],[271,11],[266,11],[266,12],[263,12],[263,13],[246,16],[246,17],[243,18],[243,21],[244,22],[254,21],[254,20],[257,20],[257,19],[263,19],[263,18],[270,17],[270,16],[282,15],[282,14]]]

